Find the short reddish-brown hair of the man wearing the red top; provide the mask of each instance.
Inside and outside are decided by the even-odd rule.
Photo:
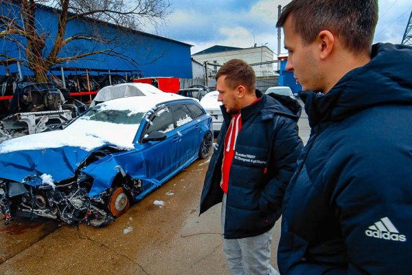
[[[256,76],[255,71],[248,63],[241,59],[231,59],[220,67],[216,74],[216,80],[220,76],[226,76],[225,83],[231,89],[243,85],[248,91],[255,91]]]

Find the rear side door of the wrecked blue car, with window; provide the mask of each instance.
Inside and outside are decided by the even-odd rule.
[[[197,156],[200,147],[201,128],[197,120],[185,104],[174,104],[170,106],[176,135],[176,168]]]

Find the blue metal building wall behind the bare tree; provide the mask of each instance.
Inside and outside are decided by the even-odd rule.
[[[10,6],[4,2],[0,3],[0,12],[8,17],[19,16],[19,6]],[[44,5],[38,5],[36,9],[36,24],[38,29],[44,34],[48,34],[45,50],[46,54],[52,50],[54,39],[57,33],[58,16],[52,8]],[[91,28],[95,27],[95,22],[85,22],[78,19],[73,19],[67,23],[65,38],[78,34],[79,32],[87,33]],[[107,50],[110,47],[117,52],[121,52],[124,56],[130,56],[138,64],[128,63],[122,58],[116,56],[108,56],[98,54],[88,56],[86,58],[75,61],[67,61],[56,65],[54,74],[60,74],[60,67],[63,68],[78,68],[88,69],[91,74],[97,74],[98,71],[129,71],[139,72],[141,76],[174,76],[177,78],[192,78],[192,60],[190,56],[190,47],[187,43],[174,41],[161,36],[139,32],[128,28],[119,28],[108,23],[98,23],[98,30],[106,37],[115,39],[116,45],[103,45],[102,43],[94,43],[91,41],[79,40],[72,41],[67,46],[63,47],[58,56],[69,57],[81,52],[84,49],[87,51]],[[17,38],[17,37],[16,37]],[[25,43],[24,40],[21,40]],[[19,50],[16,45],[8,42],[5,39],[0,40],[0,53],[6,54],[17,61],[25,60],[25,52]],[[1,58],[0,58],[1,61]],[[16,65],[8,66],[9,72],[17,72]],[[23,76],[32,75],[32,72],[26,67],[21,67]],[[70,71],[65,69],[65,74]],[[0,66],[0,75],[5,74],[5,66]]]

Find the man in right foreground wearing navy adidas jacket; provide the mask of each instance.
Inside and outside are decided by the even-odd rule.
[[[376,0],[293,0],[277,23],[312,128],[281,274],[412,274],[412,49],[371,47],[377,19]]]

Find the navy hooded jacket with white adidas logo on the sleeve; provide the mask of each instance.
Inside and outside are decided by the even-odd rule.
[[[412,49],[377,44],[328,94],[284,197],[281,274],[412,274]]]

